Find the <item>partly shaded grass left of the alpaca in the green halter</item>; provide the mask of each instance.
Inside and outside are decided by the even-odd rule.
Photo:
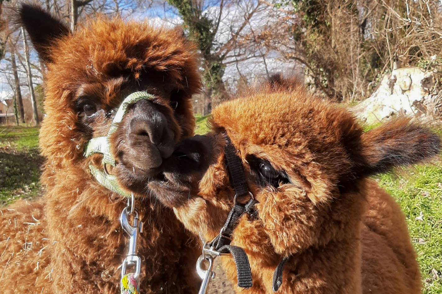
[[[38,128],[0,126],[0,204],[41,194]]]

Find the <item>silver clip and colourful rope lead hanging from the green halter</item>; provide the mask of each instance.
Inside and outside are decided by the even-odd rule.
[[[133,216],[132,225],[129,224],[130,215]],[[143,222],[139,220],[133,193],[130,199],[127,199],[127,206],[121,212],[120,223],[123,230],[129,235],[129,251],[121,264],[120,293],[139,294],[141,259],[138,256],[138,237],[143,232]],[[132,266],[134,272],[126,274],[126,267],[128,266]]]

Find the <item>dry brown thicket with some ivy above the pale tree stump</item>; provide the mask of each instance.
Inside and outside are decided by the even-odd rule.
[[[267,1],[266,1],[267,2]],[[394,64],[438,60],[442,12],[438,1],[274,0],[287,11],[269,46],[300,62],[307,84],[337,100],[371,95]],[[288,24],[288,25],[287,25]]]

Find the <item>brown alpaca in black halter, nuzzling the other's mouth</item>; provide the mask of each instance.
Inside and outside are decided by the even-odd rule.
[[[224,159],[225,135],[231,139],[258,202],[257,219],[244,214],[232,234],[253,279],[237,293],[273,293],[285,257],[278,293],[420,293],[404,215],[368,176],[436,155],[440,139],[431,130],[401,118],[364,133],[348,111],[301,87],[224,103],[212,125],[212,133],[184,140],[165,165],[167,180],[149,187],[211,241],[234,199]],[[236,285],[232,258],[219,258]]]

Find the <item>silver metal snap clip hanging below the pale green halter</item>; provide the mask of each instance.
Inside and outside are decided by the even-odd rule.
[[[133,211],[133,224],[129,224],[129,215]],[[123,230],[129,235],[129,252],[121,265],[121,277],[126,275],[126,267],[133,266],[134,279],[140,276],[141,259],[138,256],[138,237],[143,232],[143,222],[139,220],[138,211],[133,206],[126,206],[120,215],[120,224]]]

